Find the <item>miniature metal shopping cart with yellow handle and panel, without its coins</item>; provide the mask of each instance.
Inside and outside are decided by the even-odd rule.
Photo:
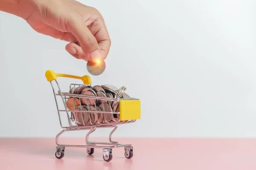
[[[135,122],[137,119],[140,119],[140,100],[139,99],[122,99],[122,98],[111,98],[111,97],[101,97],[101,96],[90,96],[90,95],[84,95],[84,94],[72,94],[70,92],[62,92],[61,88],[57,82],[57,77],[69,77],[69,78],[75,78],[75,79],[81,79],[84,84],[70,84],[70,90],[73,87],[80,87],[80,86],[91,86],[91,79],[89,76],[72,76],[67,74],[56,74],[51,70],[46,71],[45,76],[47,78],[47,81],[50,82],[52,85],[53,94],[55,97],[55,102],[57,106],[58,111],[58,117],[59,122],[61,125],[61,128],[64,128],[58,135],[56,136],[55,142],[57,144],[56,147],[56,153],[55,156],[57,159],[61,159],[64,157],[64,150],[65,147],[82,147],[87,148],[88,154],[93,154],[94,148],[102,148],[103,149],[103,159],[105,161],[111,161],[112,159],[112,149],[117,147],[124,147],[125,149],[125,157],[127,159],[131,159],[133,157],[133,147],[131,144],[119,144],[118,142],[113,142],[111,139],[111,136],[113,132],[117,129],[117,125],[121,124],[127,124]],[[55,82],[55,83],[53,83]],[[58,89],[55,91],[54,85]],[[97,111],[97,110],[90,110],[88,108],[87,110],[75,110],[74,109],[68,109],[67,107],[67,100],[70,98],[76,98],[79,100],[79,105],[81,106],[81,100],[93,100],[94,105],[96,108],[96,102],[105,102],[108,105],[111,106],[110,103],[115,102],[117,105],[119,105],[119,109],[117,111],[113,111],[112,107],[111,111],[107,111],[103,108],[103,110]],[[60,99],[61,103],[58,103],[58,99]],[[64,109],[61,109],[61,105],[63,104]],[[76,114],[74,114],[76,113]],[[88,113],[89,114],[89,123],[80,120],[80,122],[77,119],[77,116],[79,113]],[[106,121],[99,121],[99,117],[97,116],[97,121],[92,120],[91,114],[103,114],[104,119],[106,120],[106,116],[109,116],[111,114],[112,121],[106,122]],[[64,117],[64,118],[63,118]],[[64,125],[64,120],[66,121],[67,125]],[[88,138],[91,133],[93,133],[97,128],[109,128],[112,127],[113,130],[109,134],[109,142],[89,142]],[[77,130],[89,130],[89,132],[86,135],[86,145],[71,145],[71,144],[59,144],[58,143],[58,137],[67,131],[77,131]]]

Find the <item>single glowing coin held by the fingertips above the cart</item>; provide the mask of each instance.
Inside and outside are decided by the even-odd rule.
[[[90,74],[92,74],[94,76],[98,76],[105,71],[106,64],[103,59],[99,59],[96,62],[88,61],[86,68]]]

